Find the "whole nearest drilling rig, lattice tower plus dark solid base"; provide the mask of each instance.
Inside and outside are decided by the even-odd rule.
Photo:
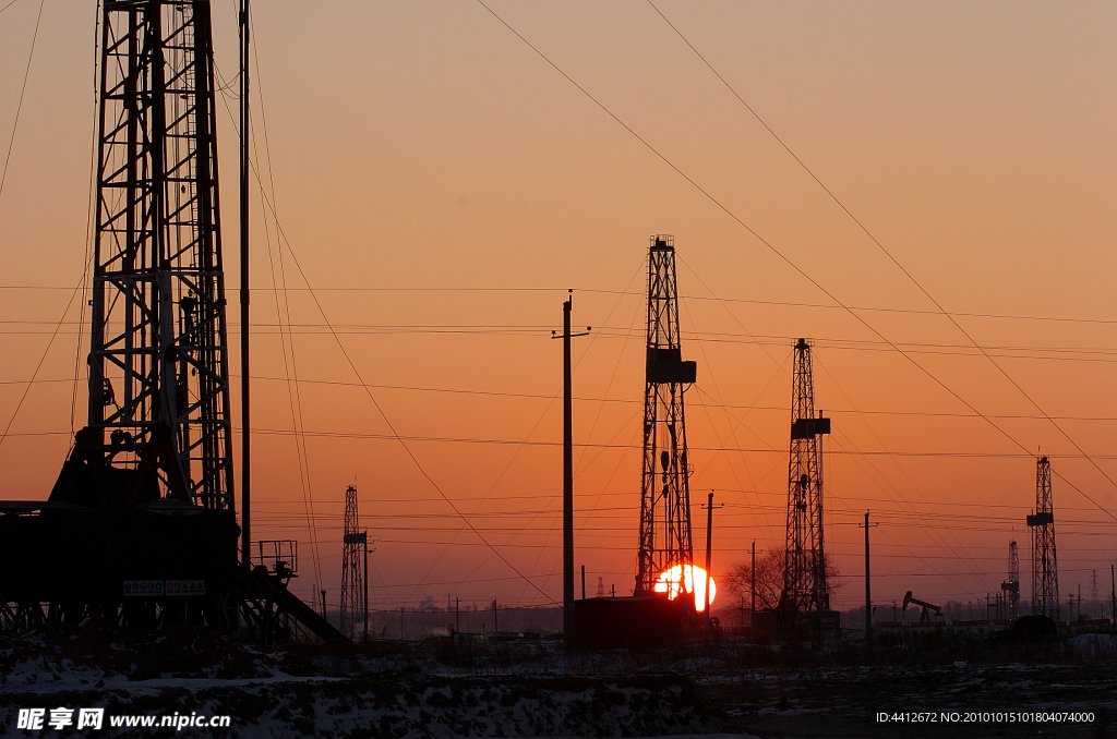
[[[47,501],[0,506],[0,592],[25,625],[235,628],[210,3],[114,0],[99,21],[86,424]]]

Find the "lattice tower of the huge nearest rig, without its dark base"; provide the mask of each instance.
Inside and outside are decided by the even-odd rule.
[[[232,509],[210,3],[106,0],[88,425],[51,499]]]

